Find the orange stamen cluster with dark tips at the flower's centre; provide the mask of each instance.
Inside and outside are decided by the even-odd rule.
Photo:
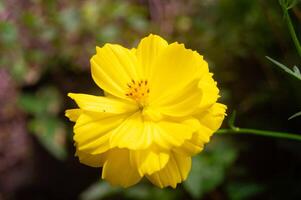
[[[127,86],[128,91],[125,95],[135,100],[139,104],[139,106],[144,107],[149,94],[149,86],[147,80],[132,80],[127,84]]]

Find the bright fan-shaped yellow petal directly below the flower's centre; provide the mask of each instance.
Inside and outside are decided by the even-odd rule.
[[[128,117],[112,132],[110,138],[112,148],[146,149],[151,143],[150,132],[145,128],[140,112],[136,112]]]

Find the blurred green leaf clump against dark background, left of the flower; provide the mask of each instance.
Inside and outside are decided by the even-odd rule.
[[[42,87],[35,93],[24,93],[19,105],[33,116],[28,128],[39,142],[57,159],[64,160],[66,152],[66,127],[57,117],[61,110],[62,97],[51,86]]]

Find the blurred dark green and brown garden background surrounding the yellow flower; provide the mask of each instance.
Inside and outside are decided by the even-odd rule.
[[[175,190],[112,188],[78,162],[66,94],[102,94],[96,45],[149,33],[205,56],[238,126],[301,134],[300,81],[265,58],[300,64],[277,0],[1,0],[0,199],[301,199],[301,143],[284,139],[215,135]]]

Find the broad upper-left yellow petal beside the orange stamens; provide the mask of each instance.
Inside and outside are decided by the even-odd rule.
[[[141,78],[141,68],[135,51],[120,45],[106,44],[97,47],[91,62],[92,77],[104,91],[126,99],[127,83]]]

